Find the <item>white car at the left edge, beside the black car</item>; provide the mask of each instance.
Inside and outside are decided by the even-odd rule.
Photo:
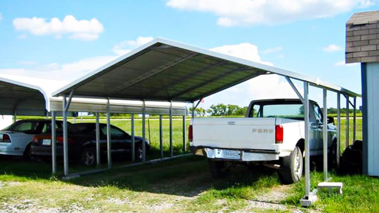
[[[56,121],[55,128],[62,127]],[[0,131],[0,154],[30,158],[30,145],[36,135],[51,133],[51,120],[19,120]]]

